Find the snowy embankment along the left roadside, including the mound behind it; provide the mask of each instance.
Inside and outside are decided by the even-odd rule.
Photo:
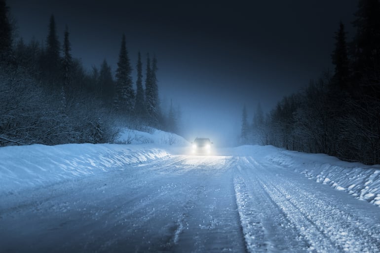
[[[135,145],[66,144],[0,148],[0,195],[30,187],[54,184],[83,176],[123,169],[128,164],[169,156],[169,145],[186,143],[182,137],[162,131],[133,131]],[[125,136],[121,135],[122,142]],[[141,142],[151,137],[152,142]]]

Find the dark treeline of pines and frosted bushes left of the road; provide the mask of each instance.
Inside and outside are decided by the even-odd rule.
[[[124,35],[114,78],[106,60],[84,70],[68,27],[59,41],[54,16],[44,43],[25,43],[13,36],[9,14],[0,0],[0,146],[108,143],[119,127],[177,130],[175,115],[160,110],[155,56],[147,55],[144,88],[138,53],[135,91]]]

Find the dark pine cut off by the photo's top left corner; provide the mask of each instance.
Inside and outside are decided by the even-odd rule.
[[[12,51],[12,28],[8,11],[5,0],[0,0],[0,63],[8,60]]]

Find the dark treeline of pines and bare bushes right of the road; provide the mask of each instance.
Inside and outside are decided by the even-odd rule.
[[[243,143],[380,164],[379,0],[359,0],[355,17],[352,41],[342,23],[335,33],[334,72],[284,97],[266,117],[258,108],[251,125],[243,111]]]

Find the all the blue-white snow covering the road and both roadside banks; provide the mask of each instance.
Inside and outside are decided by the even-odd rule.
[[[380,166],[123,132],[0,148],[0,252],[380,253]]]

